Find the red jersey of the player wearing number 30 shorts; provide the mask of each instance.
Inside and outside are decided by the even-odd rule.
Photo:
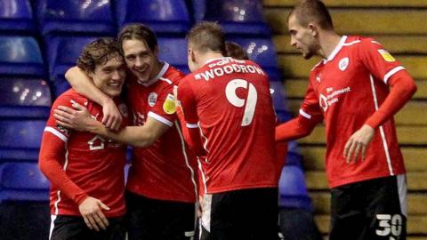
[[[334,52],[310,72],[300,115],[326,124],[326,174],[331,188],[405,173],[393,118],[375,129],[365,161],[346,164],[345,143],[382,105],[387,81],[406,71],[372,38],[342,36]],[[375,127],[375,126],[374,126]]]

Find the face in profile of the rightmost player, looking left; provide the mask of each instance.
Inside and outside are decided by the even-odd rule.
[[[304,28],[295,15],[291,15],[288,20],[289,34],[291,35],[291,45],[302,52],[302,57],[309,60],[316,55],[319,49],[316,33],[313,28]]]

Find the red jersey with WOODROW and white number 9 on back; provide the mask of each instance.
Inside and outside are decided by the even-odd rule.
[[[277,187],[275,115],[258,65],[211,60],[181,80],[178,99],[186,126],[201,130],[205,193]]]

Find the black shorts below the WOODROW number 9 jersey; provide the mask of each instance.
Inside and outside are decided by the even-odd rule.
[[[205,195],[201,222],[201,240],[277,240],[278,188]]]

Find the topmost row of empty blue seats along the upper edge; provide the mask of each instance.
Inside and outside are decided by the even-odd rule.
[[[259,0],[193,2],[195,8],[185,0],[35,0],[32,8],[29,0],[2,0],[0,31],[114,35],[116,26],[142,22],[159,34],[185,34],[194,19],[217,20],[231,34],[270,35]],[[194,18],[189,9],[196,13]]]

